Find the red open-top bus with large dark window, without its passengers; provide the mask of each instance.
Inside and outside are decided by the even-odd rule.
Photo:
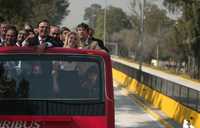
[[[0,128],[114,128],[110,56],[0,49]]]

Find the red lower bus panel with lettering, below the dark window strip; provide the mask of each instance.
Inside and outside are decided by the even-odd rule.
[[[105,116],[0,116],[3,128],[108,128]]]

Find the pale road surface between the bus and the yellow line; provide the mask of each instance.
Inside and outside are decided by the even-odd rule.
[[[115,83],[116,84],[116,83]],[[116,128],[164,128],[131,97],[125,89],[114,87]]]

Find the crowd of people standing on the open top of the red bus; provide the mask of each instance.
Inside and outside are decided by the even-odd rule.
[[[102,50],[108,52],[103,41],[93,37],[94,30],[85,23],[77,25],[75,31],[60,28],[42,20],[36,28],[25,24],[22,30],[5,22],[0,24],[0,46],[39,46]]]

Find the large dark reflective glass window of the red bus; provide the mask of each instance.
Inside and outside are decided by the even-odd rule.
[[[102,65],[94,57],[9,58],[13,57],[1,57],[0,62],[1,100],[98,100],[102,97]]]

